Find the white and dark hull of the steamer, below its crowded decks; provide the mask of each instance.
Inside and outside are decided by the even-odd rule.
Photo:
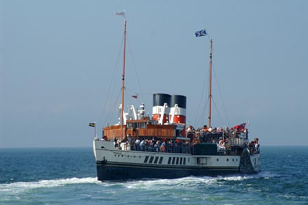
[[[259,172],[260,154],[193,155],[118,150],[113,141],[93,141],[99,180],[180,178]]]

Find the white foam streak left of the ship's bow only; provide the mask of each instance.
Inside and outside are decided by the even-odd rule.
[[[21,193],[31,189],[62,187],[68,184],[97,184],[101,183],[97,178],[65,178],[55,180],[39,180],[37,182],[14,182],[11,184],[0,184],[0,192]]]

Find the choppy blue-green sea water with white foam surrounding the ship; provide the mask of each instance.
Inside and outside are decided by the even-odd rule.
[[[308,204],[308,147],[261,148],[261,172],[100,182],[92,148],[1,148],[0,204]]]

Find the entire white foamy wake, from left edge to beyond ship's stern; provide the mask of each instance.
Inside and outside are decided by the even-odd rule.
[[[153,189],[153,186],[166,187],[166,184],[179,187],[198,187],[204,185],[215,185],[224,181],[242,181],[250,180],[253,178],[274,178],[279,177],[277,174],[270,172],[259,172],[253,175],[231,175],[231,176],[189,176],[185,178],[176,179],[142,179],[142,180],[129,180],[123,182],[101,182],[94,178],[63,178],[55,180],[39,180],[36,182],[13,182],[10,184],[0,184],[0,192],[25,192],[31,189],[62,187],[68,184],[100,184],[103,187],[123,186],[128,189]],[[168,186],[166,187],[168,189]]]

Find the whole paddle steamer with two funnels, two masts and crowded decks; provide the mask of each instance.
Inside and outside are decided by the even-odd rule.
[[[247,124],[211,128],[211,39],[207,126],[197,130],[186,127],[186,97],[182,95],[153,94],[151,118],[146,116],[144,105],[139,110],[131,106],[131,114],[125,113],[126,23],[125,20],[120,123],[106,126],[102,138],[95,137],[93,141],[98,180],[259,172],[259,141],[248,140]]]

